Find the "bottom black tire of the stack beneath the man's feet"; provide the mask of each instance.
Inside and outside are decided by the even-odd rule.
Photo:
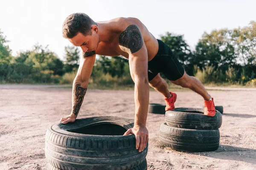
[[[219,130],[194,130],[160,126],[160,142],[163,146],[185,152],[209,152],[217,150],[220,142]]]

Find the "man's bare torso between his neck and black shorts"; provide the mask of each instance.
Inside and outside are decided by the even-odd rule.
[[[124,31],[129,31],[129,28],[132,29],[132,25],[136,25],[140,29],[143,41],[148,51],[148,61],[154,58],[154,56],[157,54],[158,43],[156,38],[137,18],[119,17],[113,20],[97,23],[104,27],[105,31],[102,33],[101,36],[104,37],[106,41],[102,41],[99,43],[99,46],[96,49],[96,54],[106,56],[122,55],[123,57],[128,58],[128,53],[124,52],[121,49],[122,47],[120,48],[119,38]]]

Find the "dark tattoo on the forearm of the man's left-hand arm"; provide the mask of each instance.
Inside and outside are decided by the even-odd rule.
[[[84,100],[84,95],[87,91],[87,88],[82,88],[80,83],[75,84],[73,91],[73,108],[72,112],[77,116],[81,108],[82,102]]]

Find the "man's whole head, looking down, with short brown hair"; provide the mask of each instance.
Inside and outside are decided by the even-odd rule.
[[[98,25],[87,14],[74,13],[63,23],[62,35],[83,52],[95,51],[99,45]]]

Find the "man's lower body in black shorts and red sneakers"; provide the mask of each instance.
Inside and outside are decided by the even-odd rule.
[[[160,55],[157,56],[157,58],[154,58],[154,62],[148,62],[148,69],[157,70],[158,72],[163,73],[166,78],[175,85],[180,85],[183,88],[190,88],[192,91],[200,94],[205,100],[204,114],[207,116],[214,116],[215,106],[213,98],[211,98],[211,96],[207,93],[204,85],[195,77],[191,77],[186,74],[182,64],[179,62],[168,45],[160,40],[158,40],[158,44],[159,49],[161,49],[159,53]],[[157,77],[155,78],[155,81],[154,79],[149,79],[151,80],[151,86],[166,97],[166,106],[171,106],[167,107],[166,109],[173,110],[175,108],[174,102],[176,101],[177,95],[175,93],[169,92],[171,97],[168,98],[168,88],[166,82],[161,79],[159,74],[157,74]]]

